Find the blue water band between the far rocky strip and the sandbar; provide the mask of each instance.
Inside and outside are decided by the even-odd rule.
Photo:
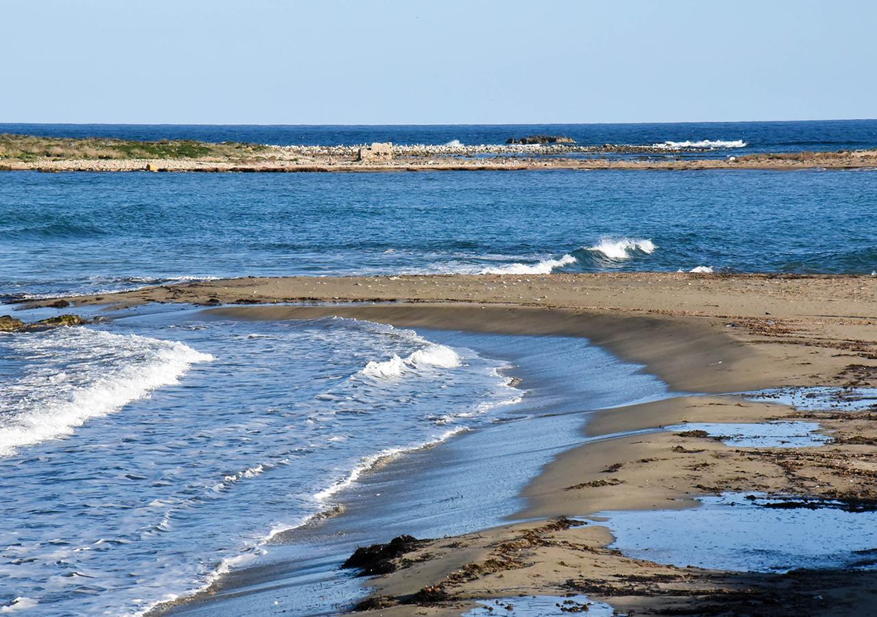
[[[0,296],[186,277],[877,269],[871,171],[0,174]]]

